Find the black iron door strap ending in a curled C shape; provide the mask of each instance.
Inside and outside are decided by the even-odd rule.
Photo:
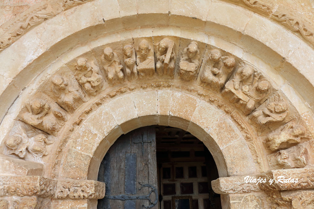
[[[112,200],[122,200],[122,201],[126,201],[126,200],[149,200],[149,206],[145,206],[142,205],[144,208],[152,208],[154,207],[157,202],[158,202],[158,191],[157,189],[149,184],[141,184],[141,182],[138,182],[141,185],[141,188],[139,188],[138,190],[141,190],[143,187],[150,187],[152,189],[152,191],[149,192],[148,195],[143,195],[143,196],[138,196],[138,195],[110,195],[110,196],[105,196],[104,199],[112,199]],[[150,199],[150,195],[152,194],[152,192],[154,191],[155,193],[155,201],[153,202]]]

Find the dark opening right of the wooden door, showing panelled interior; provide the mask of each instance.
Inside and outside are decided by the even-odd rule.
[[[178,196],[191,196],[192,209],[221,208],[210,184],[218,170],[203,142],[180,128],[155,128],[160,208],[172,209]]]

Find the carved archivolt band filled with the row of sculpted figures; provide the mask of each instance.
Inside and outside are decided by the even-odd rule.
[[[160,78],[175,81],[158,81]],[[179,85],[180,82],[187,82],[187,86]],[[134,91],[171,88],[211,102],[228,114],[246,139],[257,170],[267,170],[267,160],[273,169],[280,166],[299,168],[308,164],[306,149],[280,150],[280,153],[272,154],[274,149],[305,142],[311,135],[303,127],[296,109],[281,91],[273,88],[261,71],[209,44],[172,36],[110,43],[95,50],[95,57],[85,53],[65,63],[43,80],[39,90],[23,104],[17,118],[42,132],[38,130],[30,136],[26,133],[28,130],[24,130],[24,135],[10,130],[4,141],[5,154],[25,158],[30,153],[35,161],[41,161],[49,154],[46,146],[53,142],[51,137],[68,139],[88,114],[110,98]],[[99,100],[85,107],[90,99],[95,100],[93,98]],[[71,118],[70,128],[65,126],[68,118]],[[292,120],[299,125],[284,128]],[[63,127],[67,127],[66,130]],[[295,138],[279,134],[278,130],[286,130]],[[304,139],[299,140],[300,137]],[[260,160],[263,151],[258,148],[261,143],[258,138],[270,147],[267,153],[270,155],[264,161]],[[57,155],[62,153],[60,149],[66,146],[63,143],[67,140],[58,143]],[[55,158],[52,170],[61,159]],[[56,173],[52,172],[52,175]]]

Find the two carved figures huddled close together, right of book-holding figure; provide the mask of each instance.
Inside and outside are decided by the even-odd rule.
[[[201,74],[201,81],[204,82],[204,86],[209,85],[211,88],[220,91],[228,80],[235,65],[236,61],[234,58],[226,57],[225,60],[222,61],[220,51],[217,49],[211,50],[209,59]]]

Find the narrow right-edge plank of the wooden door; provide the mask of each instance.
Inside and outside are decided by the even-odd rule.
[[[147,149],[147,156],[148,156],[148,180],[149,184],[153,185],[158,191],[158,181],[157,181],[157,160],[156,160],[156,130],[154,126],[147,127],[146,132],[146,140],[151,141],[151,143],[148,143],[148,149]],[[151,189],[149,189],[149,192]],[[158,192],[159,194],[159,192]],[[156,196],[155,193],[152,192],[150,196],[151,200],[154,201]],[[159,201],[158,201],[159,204]],[[152,207],[152,209],[158,209],[158,204]]]

